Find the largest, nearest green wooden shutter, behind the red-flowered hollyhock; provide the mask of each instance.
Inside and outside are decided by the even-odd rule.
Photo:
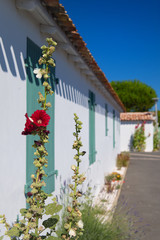
[[[38,59],[41,55],[41,49],[29,38],[27,38],[27,59],[26,59],[26,71],[27,71],[27,113],[29,116],[36,111],[41,109],[38,104],[38,92],[44,94],[44,88],[42,87],[43,80],[35,77],[33,73],[34,68],[38,67]],[[55,80],[55,69],[51,70],[49,83],[54,91],[54,80]],[[52,108],[50,108],[47,113],[50,115],[50,123],[48,125],[49,143],[46,144],[48,151],[48,168],[45,168],[47,173],[47,179],[45,179],[46,187],[45,191],[51,193],[55,189],[54,175],[56,171],[54,170],[54,104],[55,95],[48,96],[47,101],[51,102]],[[31,184],[31,174],[35,172],[35,167],[33,165],[34,152],[35,149],[32,147],[34,140],[38,139],[37,136],[28,135],[27,136],[27,156],[26,156],[26,189],[28,192]]]

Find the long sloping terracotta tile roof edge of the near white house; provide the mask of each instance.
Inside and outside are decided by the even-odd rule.
[[[60,26],[62,31],[65,33],[65,35],[67,36],[71,44],[74,46],[76,51],[82,57],[84,62],[95,74],[97,79],[110,92],[112,97],[114,97],[115,101],[121,106],[123,111],[126,111],[120,98],[113,90],[105,74],[102,72],[102,70],[96,63],[95,59],[93,58],[92,54],[86,47],[86,43],[83,41],[82,37],[78,33],[75,25],[73,24],[72,20],[69,18],[67,12],[65,11],[65,8],[62,6],[62,4],[59,3],[59,0],[41,0],[41,1],[43,5],[46,6],[48,12],[52,15],[53,19],[56,21],[58,26]]]

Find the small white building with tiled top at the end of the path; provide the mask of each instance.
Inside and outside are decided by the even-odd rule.
[[[150,112],[125,112],[120,114],[121,119],[121,151],[132,151],[133,135],[138,124],[145,122],[146,148],[145,152],[153,151],[153,113]]]

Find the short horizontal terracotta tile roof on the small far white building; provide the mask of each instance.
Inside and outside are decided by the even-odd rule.
[[[126,112],[120,113],[121,121],[153,121],[153,113],[151,112]]]

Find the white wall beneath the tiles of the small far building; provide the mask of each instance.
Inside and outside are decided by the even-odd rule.
[[[142,121],[121,121],[121,140],[120,140],[121,151],[131,150],[133,134],[135,132],[135,127],[138,123],[141,124]],[[154,131],[153,121],[146,121],[145,136],[147,137],[147,139],[145,152],[153,151],[153,131]]]

